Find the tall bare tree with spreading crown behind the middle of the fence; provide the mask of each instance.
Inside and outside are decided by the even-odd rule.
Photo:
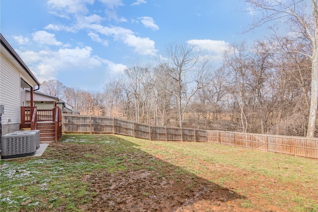
[[[166,47],[168,61],[159,62],[162,74],[171,84],[168,89],[176,99],[179,127],[190,100],[210,79],[208,63],[200,61],[193,47],[188,43],[171,43]]]

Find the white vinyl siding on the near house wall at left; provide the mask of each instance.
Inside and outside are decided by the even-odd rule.
[[[0,104],[4,105],[2,125],[20,123],[20,74],[1,54]],[[7,123],[7,120],[11,122]]]

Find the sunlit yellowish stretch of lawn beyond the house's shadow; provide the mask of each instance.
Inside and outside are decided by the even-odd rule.
[[[287,208],[291,212],[318,211],[318,160],[216,143],[146,141],[134,138],[126,140],[135,143],[136,148],[152,155],[160,155],[161,159],[181,166],[184,171],[221,186],[258,181],[260,189],[256,190],[256,196],[262,196],[269,204]],[[244,175],[236,176],[237,170],[233,170],[235,168],[251,174],[248,178]],[[264,176],[266,180],[259,179],[260,176]],[[292,184],[290,187],[293,190],[286,191],[285,184]],[[298,190],[302,191],[302,195],[297,194]],[[314,196],[306,194],[307,191],[314,193]],[[243,195],[250,193],[244,188],[237,192]],[[242,206],[257,208],[249,200],[244,201]],[[257,209],[261,210],[261,207]]]

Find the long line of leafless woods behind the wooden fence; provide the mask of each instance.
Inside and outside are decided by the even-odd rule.
[[[167,47],[156,66],[132,65],[108,79],[101,92],[45,81],[43,92],[64,99],[82,115],[113,116],[160,126],[306,136],[311,61],[274,54],[277,43],[232,45],[216,69],[187,43]],[[286,48],[310,46],[285,38]],[[317,132],[316,132],[317,133]],[[317,137],[317,134],[316,134]]]

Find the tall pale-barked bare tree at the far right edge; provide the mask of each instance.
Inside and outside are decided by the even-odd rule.
[[[314,137],[318,109],[318,3],[312,0],[312,12],[308,12],[308,0],[246,0],[250,9],[263,11],[255,16],[251,29],[278,19],[287,20],[290,30],[312,46],[312,53],[297,52],[312,61],[311,101],[308,119],[307,137]],[[293,52],[293,50],[292,50]]]

